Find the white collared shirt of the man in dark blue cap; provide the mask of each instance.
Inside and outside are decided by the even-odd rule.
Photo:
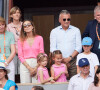
[[[89,74],[87,78],[82,78],[80,74],[74,75],[68,85],[68,90],[88,90],[89,85],[93,82],[93,77]]]

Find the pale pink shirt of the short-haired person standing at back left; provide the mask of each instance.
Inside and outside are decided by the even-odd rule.
[[[22,26],[22,22],[20,22],[21,24],[16,26],[13,23],[10,23],[7,25],[7,31],[12,32],[14,34],[15,37],[15,44],[16,44],[16,48],[18,48],[17,46],[17,41],[19,39],[19,35],[20,35],[20,31],[21,31],[21,26]]]

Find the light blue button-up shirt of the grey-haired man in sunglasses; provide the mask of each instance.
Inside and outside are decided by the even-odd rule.
[[[64,58],[69,57],[74,50],[81,52],[81,34],[77,27],[69,25],[65,31],[62,26],[58,26],[50,33],[50,52],[61,50]]]

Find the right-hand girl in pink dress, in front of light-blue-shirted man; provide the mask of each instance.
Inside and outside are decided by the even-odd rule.
[[[51,66],[51,76],[56,82],[66,82],[66,75],[68,75],[67,67],[62,63],[62,53],[60,50],[53,52],[54,64]]]

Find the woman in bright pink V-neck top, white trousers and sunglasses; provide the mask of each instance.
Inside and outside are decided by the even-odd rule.
[[[18,40],[18,57],[21,61],[21,83],[36,83],[37,55],[44,53],[42,36],[35,33],[32,21],[25,20],[22,24],[20,39]]]

